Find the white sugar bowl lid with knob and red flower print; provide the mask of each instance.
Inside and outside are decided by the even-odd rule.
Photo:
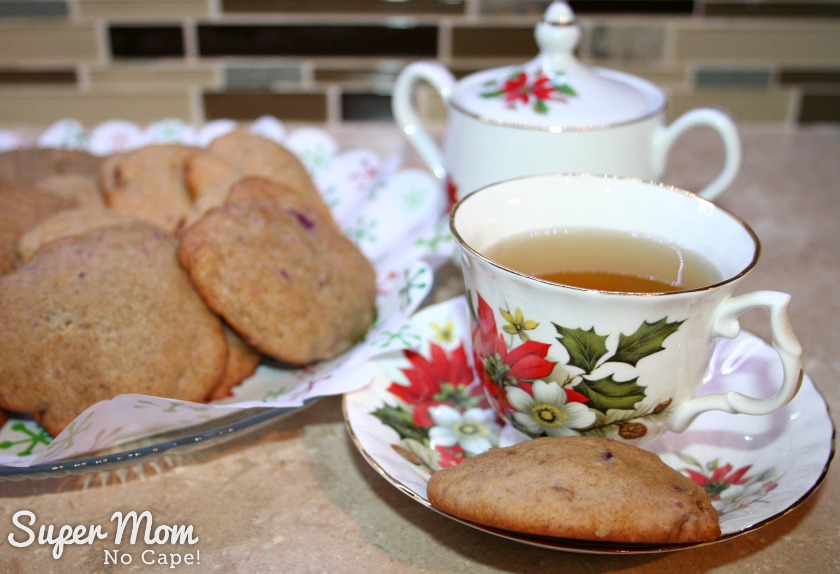
[[[451,105],[488,123],[552,131],[628,123],[664,108],[664,94],[650,82],[575,58],[580,27],[565,2],[548,7],[534,36],[536,58],[465,77]]]

